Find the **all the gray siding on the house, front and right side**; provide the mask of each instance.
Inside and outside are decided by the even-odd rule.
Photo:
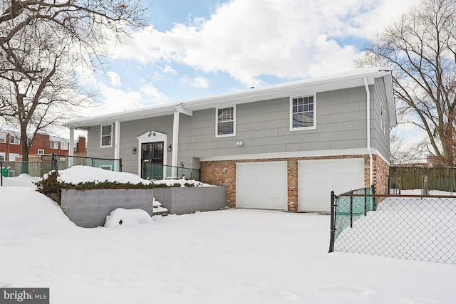
[[[375,80],[375,89],[370,86],[371,147],[389,158],[389,138],[380,130],[380,101],[384,103],[385,120],[389,121],[383,78],[380,80]],[[366,89],[361,86],[316,93],[316,129],[311,130],[290,130],[289,98],[236,105],[236,135],[231,137],[216,137],[215,108],[194,111],[192,116],[180,114],[177,163],[197,169],[202,157],[366,149],[366,110]],[[172,124],[172,115],[121,122],[123,171],[138,174],[141,147],[138,147],[137,137],[149,131],[161,132],[167,135],[170,145]],[[387,127],[389,130],[389,125]],[[237,147],[240,141],[244,145]],[[137,154],[132,152],[134,147]],[[88,130],[88,155],[113,158],[113,147],[100,148],[100,126]],[[167,152],[168,165],[171,157],[172,152]]]

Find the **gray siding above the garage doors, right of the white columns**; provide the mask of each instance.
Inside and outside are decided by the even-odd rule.
[[[290,100],[236,106],[236,136],[215,137],[215,109],[181,115],[179,157],[364,148],[366,90],[317,93],[316,129],[290,131]],[[244,145],[237,147],[242,141]]]

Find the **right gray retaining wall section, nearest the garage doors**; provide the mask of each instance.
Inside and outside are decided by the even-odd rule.
[[[154,196],[170,214],[213,211],[227,205],[225,186],[155,188]]]

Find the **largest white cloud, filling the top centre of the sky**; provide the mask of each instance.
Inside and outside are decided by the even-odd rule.
[[[116,50],[141,63],[163,60],[205,73],[229,73],[246,85],[259,76],[306,78],[350,70],[359,53],[336,40],[368,38],[418,0],[232,0],[209,19],[153,26]]]

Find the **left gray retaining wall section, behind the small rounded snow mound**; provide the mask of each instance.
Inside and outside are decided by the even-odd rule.
[[[78,226],[103,226],[111,211],[143,209],[152,216],[154,189],[62,189],[61,208]],[[160,200],[159,200],[160,201]]]

